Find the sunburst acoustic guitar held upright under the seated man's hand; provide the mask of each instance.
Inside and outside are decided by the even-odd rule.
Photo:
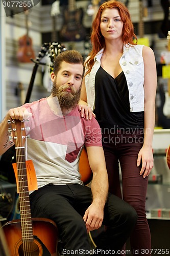
[[[31,218],[25,124],[23,121],[13,120],[11,126],[16,150],[20,220],[9,221],[3,226],[10,256],[56,256],[56,224],[49,219]]]

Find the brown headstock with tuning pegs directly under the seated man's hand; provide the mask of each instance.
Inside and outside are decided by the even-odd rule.
[[[24,147],[26,142],[26,128],[24,120],[8,120],[8,124],[11,123],[8,131],[12,132],[12,137],[9,139],[14,141],[15,147]]]

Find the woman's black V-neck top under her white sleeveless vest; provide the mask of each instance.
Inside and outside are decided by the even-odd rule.
[[[99,68],[95,76],[94,113],[101,127],[144,127],[144,112],[130,112],[129,91],[123,71],[113,78],[102,67]]]

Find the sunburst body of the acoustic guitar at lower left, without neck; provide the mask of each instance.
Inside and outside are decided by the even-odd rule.
[[[58,230],[56,224],[43,218],[32,218],[34,240],[23,250],[21,221],[13,220],[4,226],[4,234],[10,251],[9,256],[56,256]]]

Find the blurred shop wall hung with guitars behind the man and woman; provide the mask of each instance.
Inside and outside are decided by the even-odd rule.
[[[15,14],[11,9],[11,15],[6,17],[4,27],[6,109],[24,101],[35,65],[30,58],[36,60],[41,51],[44,57],[41,55],[41,60],[38,59],[39,65],[31,100],[49,94],[52,49],[48,48],[45,53],[45,50],[41,49],[44,42],[60,42],[67,49],[77,49],[84,57],[88,55],[91,23],[103,1],[42,0],[29,12]],[[144,39],[141,42],[149,44],[155,52],[158,66],[156,126],[168,129],[170,128],[168,71],[162,76],[162,66],[168,66],[168,63],[162,60],[162,54],[169,49],[167,47],[169,45],[167,34],[170,30],[169,0],[120,1],[127,5],[131,13],[138,38]]]

